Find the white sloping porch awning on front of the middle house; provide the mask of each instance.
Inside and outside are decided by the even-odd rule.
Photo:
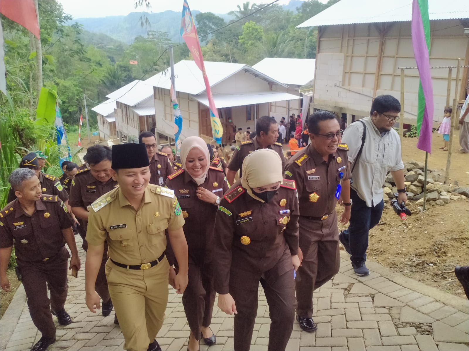
[[[192,96],[198,102],[208,106],[207,94]],[[256,103],[299,99],[298,95],[276,91],[256,91],[242,94],[213,94],[215,106],[223,107],[253,105]]]

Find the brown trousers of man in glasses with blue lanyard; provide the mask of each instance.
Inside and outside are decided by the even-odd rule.
[[[303,262],[296,271],[295,289],[300,317],[313,314],[313,292],[340,268],[339,233],[335,211],[324,220],[300,216],[300,249]]]

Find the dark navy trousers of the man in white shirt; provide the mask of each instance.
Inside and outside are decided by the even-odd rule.
[[[366,250],[368,249],[368,232],[379,223],[383,214],[384,202],[381,200],[377,205],[368,207],[355,190],[350,189],[350,198],[353,201],[350,224],[343,231],[343,238],[350,246],[350,261],[352,266],[366,261]]]

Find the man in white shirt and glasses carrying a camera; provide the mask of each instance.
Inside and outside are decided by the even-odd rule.
[[[401,142],[399,135],[393,129],[400,111],[401,104],[393,96],[377,96],[371,105],[370,116],[361,119],[361,122],[350,124],[342,138],[342,142],[348,145],[348,161],[352,167],[353,183],[350,182],[352,199],[350,225],[339,234],[339,240],[351,255],[352,267],[359,276],[370,274],[365,266],[368,232],[381,219],[382,186],[388,171],[391,171],[396,183],[399,203],[407,200]],[[362,154],[357,160],[364,127],[365,142]]]

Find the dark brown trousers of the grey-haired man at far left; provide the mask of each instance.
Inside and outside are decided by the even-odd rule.
[[[55,337],[51,308],[60,311],[67,300],[68,257],[68,251],[63,247],[47,261],[18,261],[32,322],[45,337]],[[50,300],[47,288],[51,292]]]

